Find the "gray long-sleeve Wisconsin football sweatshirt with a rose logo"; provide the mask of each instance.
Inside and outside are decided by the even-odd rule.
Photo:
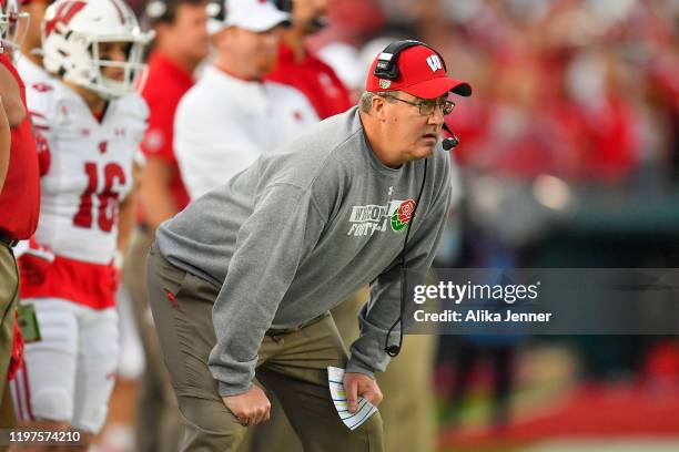
[[[388,362],[383,348],[399,315],[398,257],[424,162],[385,166],[367,144],[357,107],[286,147],[260,157],[156,233],[173,265],[221,286],[212,314],[217,343],[209,359],[221,396],[252,387],[268,328],[313,319],[368,282],[347,371],[372,374]],[[429,157],[406,255],[408,268],[422,273],[448,214],[449,165],[447,153]]]

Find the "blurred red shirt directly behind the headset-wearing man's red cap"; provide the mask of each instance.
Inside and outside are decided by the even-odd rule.
[[[283,43],[278,48],[278,63],[266,80],[302,91],[322,120],[354,106],[348,90],[331,66],[308,51],[297,62],[293,51]]]

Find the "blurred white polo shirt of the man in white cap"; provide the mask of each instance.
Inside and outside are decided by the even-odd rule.
[[[226,183],[317,121],[294,88],[205,68],[174,117],[174,152],[189,195],[194,199]]]

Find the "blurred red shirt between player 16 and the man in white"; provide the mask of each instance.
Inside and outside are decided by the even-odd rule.
[[[162,53],[156,51],[149,59],[149,75],[142,91],[142,97],[150,110],[149,129],[141,150],[148,158],[161,158],[173,166],[174,175],[170,182],[170,191],[180,210],[186,207],[190,197],[172,147],[174,112],[193,83],[193,75],[190,72]]]

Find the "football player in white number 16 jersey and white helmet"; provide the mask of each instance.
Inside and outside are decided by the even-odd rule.
[[[41,217],[20,258],[21,305],[40,340],[12,381],[17,415],[40,430],[102,428],[118,362],[116,258],[134,213],[133,157],[148,107],[134,92],[152,33],[121,0],[59,0],[42,22],[42,55],[59,83],[28,91],[49,146]]]

